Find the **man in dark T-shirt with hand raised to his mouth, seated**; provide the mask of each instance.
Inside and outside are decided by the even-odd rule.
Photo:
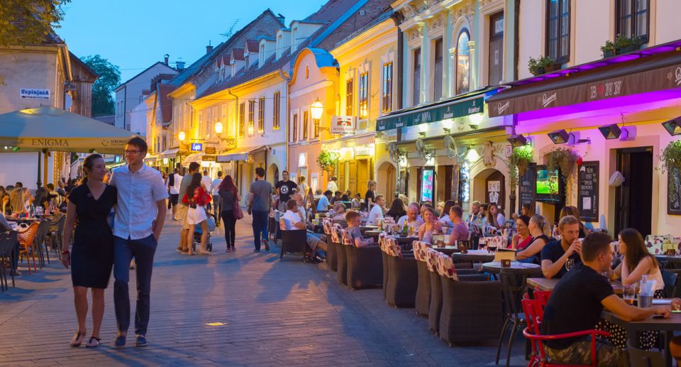
[[[574,265],[582,263],[582,240],[580,221],[572,215],[560,218],[558,222],[560,240],[551,241],[541,249],[541,271],[547,279],[562,278],[567,269],[565,263],[570,258]]]

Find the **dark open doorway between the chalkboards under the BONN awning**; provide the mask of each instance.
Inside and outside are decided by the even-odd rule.
[[[653,147],[617,150],[624,182],[615,190],[615,233],[634,228],[646,238],[653,216]]]

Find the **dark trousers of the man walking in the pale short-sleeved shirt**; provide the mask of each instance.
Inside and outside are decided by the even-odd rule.
[[[130,280],[130,261],[135,258],[135,275],[137,276],[135,334],[147,334],[151,271],[156,245],[153,234],[145,239],[121,239],[121,237],[114,236],[114,307],[119,332],[128,332],[128,327],[130,327],[128,281]]]

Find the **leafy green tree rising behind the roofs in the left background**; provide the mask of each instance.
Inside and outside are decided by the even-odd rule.
[[[118,66],[100,55],[85,56],[81,60],[99,74],[92,86],[92,116],[114,114],[114,90],[121,84]]]

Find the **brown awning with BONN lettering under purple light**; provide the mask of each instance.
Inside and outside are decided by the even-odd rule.
[[[681,87],[680,51],[637,57],[506,89],[487,99],[489,117]]]

